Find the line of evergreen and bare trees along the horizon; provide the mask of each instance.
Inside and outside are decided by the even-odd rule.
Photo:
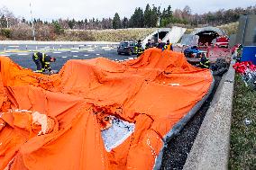
[[[6,7],[0,9],[0,28],[11,28],[17,24],[27,24],[32,26],[50,25],[58,33],[63,30],[104,30],[104,29],[126,29],[126,28],[152,28],[152,27],[169,27],[172,24],[181,23],[197,27],[200,25],[221,25],[224,23],[237,22],[241,14],[256,13],[256,5],[247,8],[237,7],[234,9],[220,9],[216,12],[203,14],[192,13],[189,6],[184,9],[173,10],[171,5],[167,8],[160,9],[160,6],[147,4],[145,10],[141,7],[135,8],[133,15],[121,18],[119,13],[115,13],[113,18],[103,18],[101,20],[92,18],[85,20],[59,19],[51,22],[34,19],[16,18]]]

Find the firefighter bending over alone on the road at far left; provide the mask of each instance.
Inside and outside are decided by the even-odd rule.
[[[50,62],[55,62],[56,58],[51,58],[47,54],[44,54],[41,52],[35,52],[32,55],[32,60],[36,64],[36,67],[37,67],[35,72],[42,73],[47,70],[51,73],[52,71],[50,68]]]

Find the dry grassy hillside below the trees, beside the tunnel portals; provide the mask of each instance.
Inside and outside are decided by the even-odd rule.
[[[232,22],[217,26],[223,29],[228,35],[237,32],[239,22]],[[23,28],[23,27],[22,27]],[[108,30],[65,30],[61,34],[53,34],[51,31],[41,29],[36,31],[36,40],[67,40],[67,41],[122,41],[139,40],[149,35],[158,28],[130,28],[130,29],[108,29]],[[189,28],[186,34],[193,31]],[[31,28],[1,29],[0,40],[32,40]]]

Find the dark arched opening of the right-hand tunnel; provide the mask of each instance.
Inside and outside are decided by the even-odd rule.
[[[200,31],[196,35],[199,36],[198,45],[206,46],[210,45],[220,35],[215,31]]]

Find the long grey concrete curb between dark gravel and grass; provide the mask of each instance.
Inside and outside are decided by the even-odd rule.
[[[184,170],[227,169],[233,108],[233,62],[224,75],[206,112]]]

